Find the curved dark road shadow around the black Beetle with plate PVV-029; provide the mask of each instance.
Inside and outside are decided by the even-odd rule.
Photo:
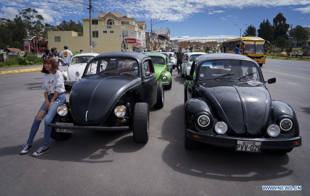
[[[289,163],[287,154],[242,153],[206,144],[199,144],[195,150],[185,149],[184,118],[175,118],[181,114],[184,116],[183,105],[172,109],[162,125],[162,139],[170,142],[162,153],[162,160],[174,171],[226,181],[270,180],[293,173],[286,167]],[[178,163],[180,165],[176,167]]]

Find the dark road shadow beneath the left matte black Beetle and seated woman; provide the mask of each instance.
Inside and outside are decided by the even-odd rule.
[[[42,142],[43,138],[35,140],[33,148],[27,154],[21,155],[32,156]],[[116,153],[132,153],[142,149],[145,144],[135,143],[131,131],[75,130],[69,140],[56,141],[50,138],[50,151],[35,158],[60,162],[110,163],[113,162],[113,156],[109,150]],[[0,157],[18,155],[22,145],[1,148]]]

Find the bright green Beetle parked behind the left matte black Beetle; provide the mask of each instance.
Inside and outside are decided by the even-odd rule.
[[[157,82],[162,82],[166,89],[171,89],[172,80],[167,56],[160,53],[146,53],[152,58]]]

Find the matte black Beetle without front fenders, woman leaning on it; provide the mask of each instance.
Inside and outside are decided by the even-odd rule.
[[[147,142],[149,106],[162,108],[164,91],[152,59],[138,52],[110,52],[94,57],[71,89],[69,103],[57,108],[51,138],[68,139],[74,129],[133,130]]]

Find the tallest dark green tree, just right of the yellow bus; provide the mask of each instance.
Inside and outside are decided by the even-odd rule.
[[[277,40],[278,36],[288,39],[287,31],[290,28],[290,24],[286,23],[286,18],[282,13],[278,13],[273,18],[273,40]]]

